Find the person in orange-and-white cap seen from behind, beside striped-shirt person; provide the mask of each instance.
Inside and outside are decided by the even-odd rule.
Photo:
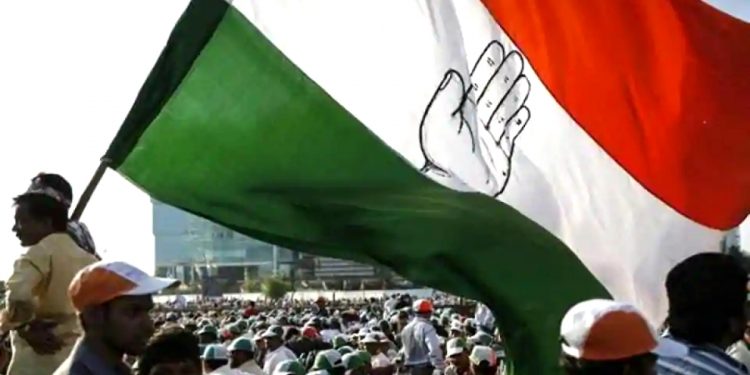
[[[576,304],[562,319],[560,342],[560,365],[565,374],[654,374],[656,333],[632,305],[604,299]],[[477,361],[473,358],[477,348],[487,347],[474,347],[473,374],[478,374],[474,369]],[[479,373],[486,373],[482,371],[480,369]]]

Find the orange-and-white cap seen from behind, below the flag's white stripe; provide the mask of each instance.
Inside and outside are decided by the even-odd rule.
[[[590,361],[625,359],[653,351],[656,333],[632,305],[593,299],[573,306],[560,324],[562,351]]]

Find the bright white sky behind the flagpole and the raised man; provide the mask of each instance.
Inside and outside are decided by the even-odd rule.
[[[750,1],[708,2],[750,21]],[[10,231],[11,198],[39,172],[83,192],[186,4],[0,1],[0,278],[23,251]],[[153,271],[150,200],[116,172],[106,173],[82,221],[104,257]],[[743,241],[750,249],[750,223]]]

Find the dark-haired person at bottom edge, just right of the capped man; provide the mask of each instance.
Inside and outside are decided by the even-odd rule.
[[[172,326],[159,331],[138,361],[139,375],[201,375],[198,339],[190,331]]]

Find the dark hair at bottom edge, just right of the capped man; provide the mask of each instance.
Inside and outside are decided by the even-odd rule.
[[[198,339],[179,326],[158,331],[138,361],[138,373],[148,374],[160,363],[191,362],[201,368]]]

